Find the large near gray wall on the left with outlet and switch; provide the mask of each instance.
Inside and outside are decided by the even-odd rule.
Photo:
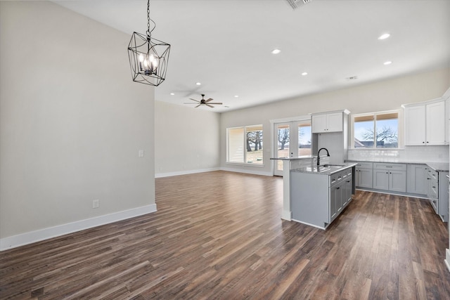
[[[47,1],[0,1],[0,28],[0,239],[155,207],[154,89],[131,81],[131,33]]]

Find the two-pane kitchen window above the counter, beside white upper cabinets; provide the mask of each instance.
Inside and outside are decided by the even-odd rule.
[[[399,113],[354,115],[353,137],[354,148],[399,148]]]

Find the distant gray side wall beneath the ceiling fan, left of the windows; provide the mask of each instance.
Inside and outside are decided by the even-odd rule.
[[[155,102],[155,176],[219,169],[217,112]]]

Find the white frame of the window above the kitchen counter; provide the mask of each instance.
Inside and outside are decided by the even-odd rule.
[[[374,129],[374,132],[376,133],[376,131],[377,131],[377,121],[378,120],[381,120],[381,119],[377,119],[377,116],[378,115],[391,115],[391,114],[397,114],[397,147],[396,148],[383,148],[383,147],[377,147],[377,143],[376,143],[376,141],[375,141],[375,136],[374,136],[374,141],[373,141],[373,146],[372,147],[361,147],[361,148],[355,148],[354,147],[354,138],[355,138],[355,136],[354,136],[354,120],[356,119],[356,118],[359,118],[359,117],[373,117],[373,129]],[[402,149],[402,147],[403,147],[403,138],[404,138],[404,136],[403,136],[403,131],[402,131],[402,126],[401,126],[401,124],[403,124],[402,123],[402,117],[403,117],[403,115],[401,115],[401,110],[383,110],[383,111],[380,111],[380,112],[365,112],[365,113],[361,113],[361,114],[355,114],[355,115],[352,115],[352,124],[351,124],[351,127],[350,127],[350,129],[351,129],[351,131],[352,131],[352,135],[351,135],[351,138],[350,138],[350,141],[349,141],[349,143],[350,143],[350,145],[349,145],[349,149],[352,149],[352,150],[399,150],[399,149]]]

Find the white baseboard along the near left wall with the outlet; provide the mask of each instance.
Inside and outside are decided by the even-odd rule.
[[[59,226],[31,231],[29,233],[22,233],[20,235],[4,237],[0,239],[0,251],[20,247],[25,244],[32,244],[33,242],[39,242],[41,240],[48,240],[52,237],[59,237],[61,235],[67,235],[68,233],[75,233],[77,231],[113,223],[116,221],[122,221],[124,219],[130,219],[135,216],[141,216],[143,214],[149,214],[155,211],[156,204],[150,204],[146,205],[145,207],[136,207],[134,209],[118,211],[113,214],[106,214],[91,219],[85,219]]]

